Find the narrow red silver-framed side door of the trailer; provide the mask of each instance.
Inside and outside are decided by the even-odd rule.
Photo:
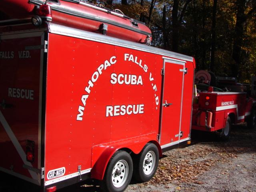
[[[162,148],[178,144],[181,136],[184,62],[164,60],[162,86],[162,114],[160,145]]]

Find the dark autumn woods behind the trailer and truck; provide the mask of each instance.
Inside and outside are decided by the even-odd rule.
[[[152,46],[193,56],[197,70],[244,83],[256,75],[256,0],[92,2],[145,22],[152,30]]]

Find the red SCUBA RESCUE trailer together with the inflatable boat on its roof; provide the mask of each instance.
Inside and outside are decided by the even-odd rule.
[[[190,141],[192,57],[145,45],[143,23],[79,0],[0,9],[2,172],[48,192],[88,178],[121,192]]]

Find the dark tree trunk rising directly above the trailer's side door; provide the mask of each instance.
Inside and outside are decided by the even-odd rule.
[[[178,52],[178,8],[179,0],[174,0],[172,7],[172,51],[174,52]]]

